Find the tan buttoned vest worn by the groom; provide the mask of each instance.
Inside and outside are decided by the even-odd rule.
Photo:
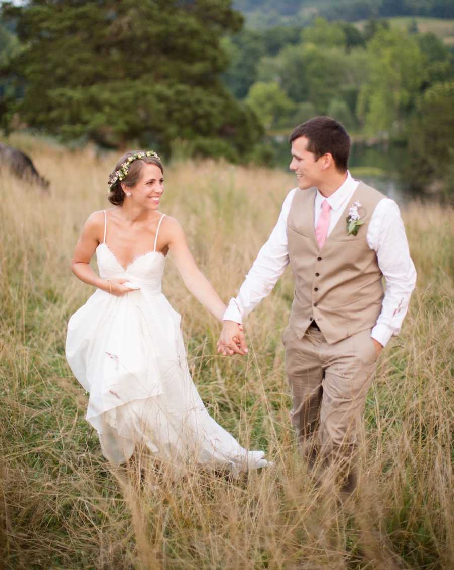
[[[382,310],[382,272],[366,235],[375,206],[385,196],[359,182],[320,250],[314,229],[316,194],[316,188],[296,190],[288,215],[288,252],[295,279],[289,325],[302,338],[315,319],[328,344],[334,344],[372,328]],[[365,223],[357,235],[347,235],[348,210],[356,201]]]

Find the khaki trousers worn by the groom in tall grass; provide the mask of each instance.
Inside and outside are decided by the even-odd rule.
[[[300,339],[289,326],[283,343],[302,453],[310,468],[335,467],[343,490],[353,491],[358,432],[377,365],[370,329],[328,344],[317,328]]]

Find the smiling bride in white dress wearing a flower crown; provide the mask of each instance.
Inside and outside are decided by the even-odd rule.
[[[66,340],[104,456],[118,465],[140,443],[175,467],[191,458],[237,476],[271,465],[211,418],[191,379],[181,317],[161,292],[167,253],[220,321],[226,306],[195,264],[177,220],[159,211],[160,158],[153,151],[124,154],[109,186],[113,207],[88,217],[72,258],[73,273],[97,290],[69,319]],[[89,265],[95,253],[99,275]]]

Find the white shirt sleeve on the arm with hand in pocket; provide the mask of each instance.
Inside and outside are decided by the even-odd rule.
[[[400,332],[415,288],[416,270],[399,207],[394,201],[386,199],[379,202],[369,230],[369,245],[377,253],[378,266],[386,282],[382,311],[371,336],[385,346],[391,336]]]

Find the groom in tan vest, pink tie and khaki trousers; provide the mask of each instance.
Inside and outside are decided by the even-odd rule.
[[[315,117],[290,142],[298,187],[228,305],[218,352],[247,352],[243,318],[290,263],[295,296],[283,343],[292,423],[309,467],[317,457],[333,465],[349,493],[367,390],[383,347],[400,330],[416,271],[396,203],[347,170],[342,125]]]

